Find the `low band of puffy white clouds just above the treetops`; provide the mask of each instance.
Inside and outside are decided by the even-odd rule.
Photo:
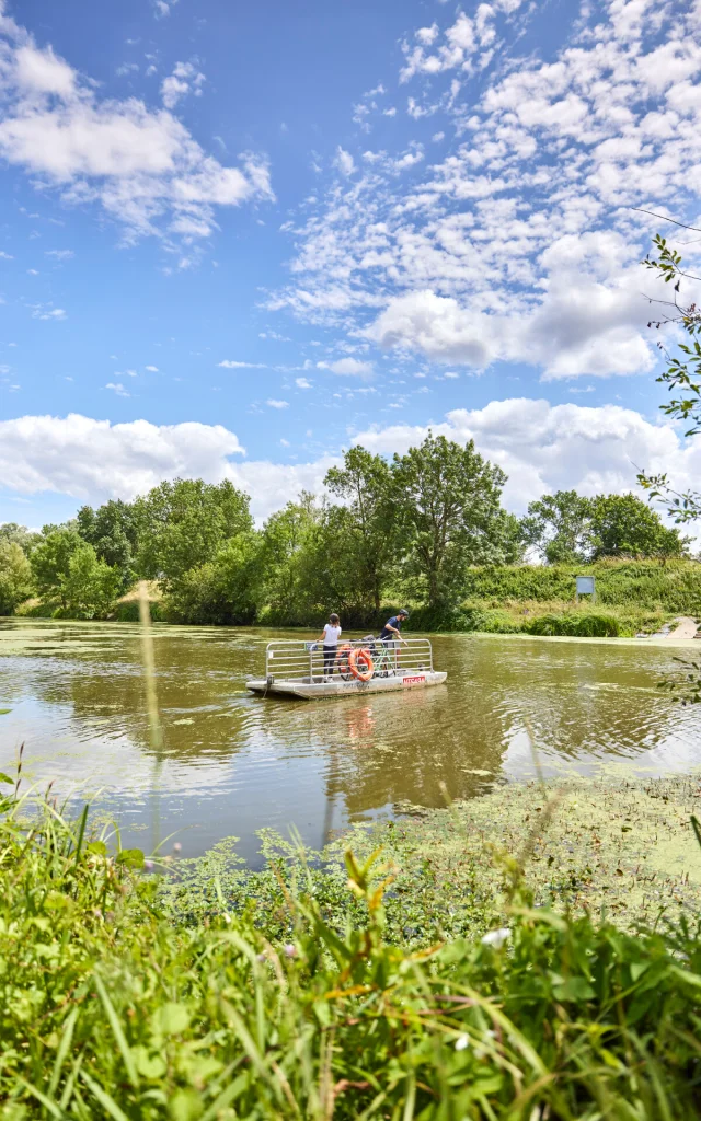
[[[585,408],[511,398],[482,409],[454,409],[431,427],[460,443],[474,439],[483,455],[504,467],[509,475],[505,502],[518,513],[546,491],[635,490],[638,467],[666,471],[682,489],[701,478],[700,441],[685,443],[671,425],[651,424],[614,405]],[[427,430],[376,426],[358,433],[353,443],[390,455],[419,443]],[[319,492],[338,462],[330,455],[298,465],[237,462],[243,455],[238,437],[222,425],[110,424],[75,414],[0,421],[3,489],[20,495],[53,491],[76,503],[132,499],[163,479],[231,479],[251,494],[260,520],[301,490]]]

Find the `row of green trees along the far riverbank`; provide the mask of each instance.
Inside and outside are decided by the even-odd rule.
[[[57,615],[105,618],[146,578],[174,622],[308,626],[333,608],[365,626],[389,599],[451,608],[470,567],[529,550],[545,564],[686,553],[689,539],[635,495],[559,491],[519,519],[501,504],[505,483],[472,441],[432,434],[391,461],[351,448],[324,497],[303,492],[261,529],[230,481],[163,482],[40,534],[0,526],[0,613],[37,595]]]

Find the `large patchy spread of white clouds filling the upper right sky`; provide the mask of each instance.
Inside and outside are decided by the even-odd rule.
[[[527,363],[545,380],[648,372],[643,294],[661,288],[639,261],[661,223],[633,207],[701,221],[699,6],[648,9],[578,8],[546,63],[515,54],[534,10],[520,0],[419,29],[405,46],[411,111],[442,113],[454,145],[432,165],[418,148],[366,152],[289,223],[292,282],[269,306],[446,364]],[[501,61],[485,62],[476,92],[491,49]],[[406,156],[416,166],[399,188]],[[698,272],[701,247],[683,251]]]

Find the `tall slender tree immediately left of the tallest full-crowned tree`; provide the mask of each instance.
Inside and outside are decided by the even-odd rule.
[[[343,455],[343,466],[326,473],[324,485],[344,502],[328,518],[341,546],[334,552],[345,558],[343,567],[348,571],[350,564],[353,571],[359,603],[369,600],[377,612],[395,559],[389,464],[365,447],[352,447]]]

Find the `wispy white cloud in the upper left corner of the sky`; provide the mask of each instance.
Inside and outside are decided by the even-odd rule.
[[[224,167],[169,111],[203,81],[194,64],[178,63],[164,82],[164,109],[101,98],[50,46],[1,19],[0,156],[66,203],[99,202],[131,238],[207,237],[214,207],[274,195],[265,158],[245,154]]]

